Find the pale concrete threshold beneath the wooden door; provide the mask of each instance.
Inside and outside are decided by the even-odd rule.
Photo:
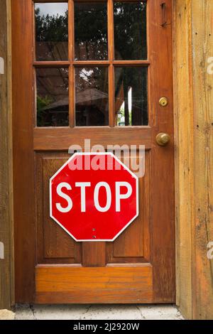
[[[174,305],[16,305],[16,320],[183,320]]]

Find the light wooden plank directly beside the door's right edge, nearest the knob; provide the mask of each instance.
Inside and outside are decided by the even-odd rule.
[[[174,1],[174,114],[177,304],[192,318],[193,106],[191,1]]]

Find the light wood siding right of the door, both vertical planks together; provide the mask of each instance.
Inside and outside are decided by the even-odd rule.
[[[177,303],[193,319],[213,317],[212,20],[212,0],[174,1]]]

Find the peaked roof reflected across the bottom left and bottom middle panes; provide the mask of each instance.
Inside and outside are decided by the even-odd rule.
[[[108,99],[108,95],[107,93],[101,92],[96,88],[92,88],[90,90],[83,90],[82,92],[77,92],[75,97],[76,104],[88,104],[85,102],[92,102],[99,99]],[[65,97],[64,99],[60,99],[57,102],[49,104],[48,107],[45,107],[45,110],[62,107],[68,104],[69,104],[69,98]]]

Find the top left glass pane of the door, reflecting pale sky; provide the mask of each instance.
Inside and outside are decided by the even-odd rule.
[[[68,59],[68,5],[35,4],[36,60]]]

